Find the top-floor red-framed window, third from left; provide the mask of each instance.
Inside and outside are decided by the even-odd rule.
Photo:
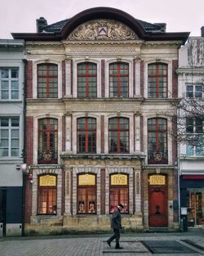
[[[109,65],[109,97],[128,97],[129,65],[113,63]]]

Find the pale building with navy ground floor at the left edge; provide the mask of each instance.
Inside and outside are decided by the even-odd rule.
[[[21,236],[24,42],[0,39],[0,237]]]

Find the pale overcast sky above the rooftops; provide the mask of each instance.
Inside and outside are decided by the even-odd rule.
[[[11,32],[35,33],[41,16],[50,25],[92,7],[114,7],[139,20],[164,22],[166,32],[200,36],[204,26],[204,0],[1,0],[0,38],[12,38]]]

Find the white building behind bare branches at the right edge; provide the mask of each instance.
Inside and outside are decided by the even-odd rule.
[[[204,27],[201,37],[188,38],[180,48],[179,96],[200,100],[204,97]],[[190,102],[190,101],[188,101]],[[192,106],[192,105],[191,105]],[[203,119],[186,119],[187,136],[194,134],[203,140]],[[202,142],[203,145],[203,142]],[[187,208],[187,226],[202,227],[204,220],[204,149],[197,145],[180,145],[180,206]],[[184,220],[185,216],[182,216]]]

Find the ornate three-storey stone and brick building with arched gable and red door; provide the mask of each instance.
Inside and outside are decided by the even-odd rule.
[[[188,33],[97,7],[25,40],[25,233],[179,228],[176,145],[166,119]]]

